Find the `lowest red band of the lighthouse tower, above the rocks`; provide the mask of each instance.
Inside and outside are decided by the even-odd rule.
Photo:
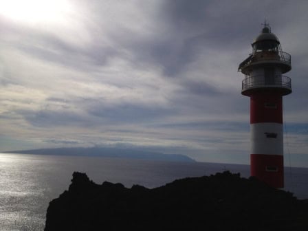
[[[284,187],[283,155],[250,155],[250,174],[274,188]]]

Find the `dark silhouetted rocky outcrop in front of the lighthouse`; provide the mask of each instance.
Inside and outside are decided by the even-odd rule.
[[[74,173],[50,202],[51,230],[308,230],[308,203],[230,172],[125,188]]]

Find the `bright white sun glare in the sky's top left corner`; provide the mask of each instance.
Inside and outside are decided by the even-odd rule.
[[[0,15],[19,23],[61,23],[71,11],[66,0],[0,0]]]

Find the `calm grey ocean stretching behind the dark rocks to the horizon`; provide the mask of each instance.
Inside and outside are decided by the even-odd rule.
[[[49,202],[67,190],[74,171],[87,173],[97,184],[155,188],[223,170],[242,177],[249,177],[250,171],[248,165],[239,164],[0,153],[0,230],[43,230]],[[308,168],[285,168],[285,190],[308,199]]]

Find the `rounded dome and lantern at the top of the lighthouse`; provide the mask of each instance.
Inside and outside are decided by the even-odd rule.
[[[274,50],[280,44],[277,36],[267,26],[262,29],[261,34],[256,37],[252,47],[254,50]]]

